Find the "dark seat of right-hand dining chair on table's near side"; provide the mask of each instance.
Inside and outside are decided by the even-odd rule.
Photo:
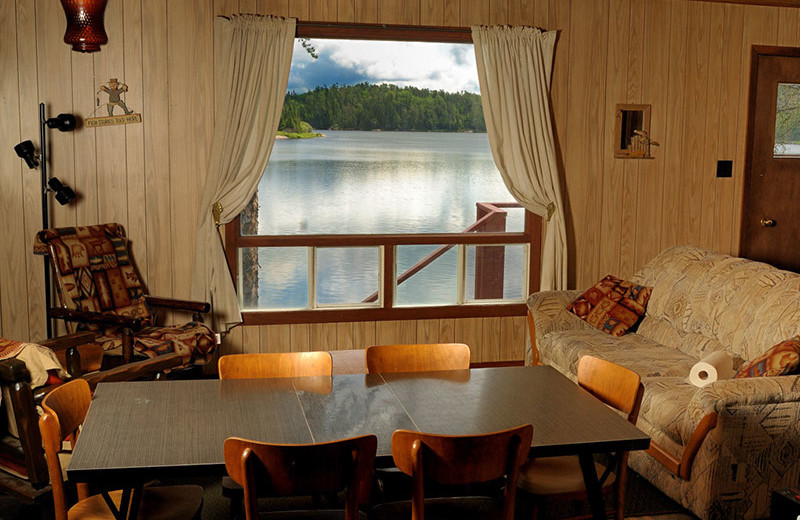
[[[503,517],[503,503],[489,497],[429,498],[425,520],[490,520]],[[370,520],[411,518],[411,501],[388,502],[372,508]]]

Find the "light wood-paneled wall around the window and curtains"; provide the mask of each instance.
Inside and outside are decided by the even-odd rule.
[[[87,117],[110,77],[129,85],[144,121],[49,133],[50,171],[81,195],[53,206],[53,222],[121,222],[150,292],[188,296],[213,128],[213,19],[237,12],[558,30],[552,98],[574,287],[628,276],[678,243],[738,251],[750,48],[800,46],[800,9],[688,0],[111,0],[109,44],[82,55],[61,41],[58,2],[0,2],[0,334],[44,336],[31,254],[38,175],[11,148],[38,142],[40,101]],[[613,158],[617,103],[652,104],[655,159]],[[733,160],[733,178],[715,178],[719,159]],[[239,328],[226,349],[464,341],[486,361],[521,359],[524,338],[520,318],[338,323]]]

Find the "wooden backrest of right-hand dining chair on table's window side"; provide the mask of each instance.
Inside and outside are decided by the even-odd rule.
[[[366,357],[370,374],[469,369],[469,347],[463,343],[374,345]]]

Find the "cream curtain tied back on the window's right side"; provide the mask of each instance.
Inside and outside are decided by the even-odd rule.
[[[550,118],[556,33],[473,27],[472,39],[494,162],[517,202],[547,220],[541,289],[566,289],[566,222]]]

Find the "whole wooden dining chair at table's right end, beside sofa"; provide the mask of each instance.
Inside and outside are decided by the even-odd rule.
[[[644,387],[636,372],[592,356],[583,356],[578,362],[578,384],[607,405],[627,414],[628,421],[636,424],[642,403]],[[617,520],[625,511],[625,480],[628,453],[611,457],[609,467],[595,463],[604,495],[616,497],[614,510]],[[613,471],[613,472],[612,472]],[[547,501],[585,500],[586,488],[577,456],[544,457],[531,459],[523,467],[519,487],[524,493],[520,499],[530,500],[531,516],[537,518],[542,504]]]

